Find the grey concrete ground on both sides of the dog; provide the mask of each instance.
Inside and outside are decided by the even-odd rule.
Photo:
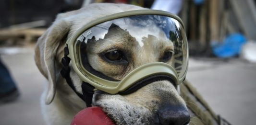
[[[10,69],[21,96],[15,102],[0,104],[0,125],[45,125],[39,99],[46,79],[34,63],[33,47],[12,52],[1,54],[1,59]],[[240,59],[191,58],[186,78],[232,125],[255,125],[256,64]]]

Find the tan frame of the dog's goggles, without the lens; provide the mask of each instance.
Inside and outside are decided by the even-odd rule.
[[[71,58],[72,60],[72,67],[74,71],[77,73],[79,78],[92,86],[94,86],[96,89],[108,92],[110,94],[115,94],[120,91],[124,91],[139,80],[143,80],[146,77],[152,76],[152,75],[168,75],[170,76],[175,84],[180,84],[182,81],[185,79],[185,74],[187,72],[187,66],[184,72],[184,75],[180,78],[178,78],[178,74],[175,71],[171,65],[167,63],[162,63],[162,62],[153,62],[153,63],[148,63],[145,65],[142,65],[138,68],[135,68],[133,71],[131,71],[127,76],[123,78],[121,81],[110,81],[110,80],[105,80],[102,78],[99,78],[98,76],[95,76],[94,74],[88,72],[85,68],[81,66],[81,63],[79,62],[78,59],[79,56],[77,56],[77,51],[75,46],[75,42],[77,40],[77,37],[79,37],[80,34],[84,33],[87,29],[99,24],[103,23],[106,21],[110,21],[113,19],[118,19],[122,17],[127,17],[127,16],[133,16],[133,15],[162,15],[162,16],[168,16],[171,17],[175,20],[177,20],[179,23],[182,24],[182,27],[184,29],[184,25],[182,20],[176,16],[173,15],[169,12],[166,11],[157,11],[157,10],[136,10],[136,11],[125,11],[125,12],[120,12],[116,14],[112,14],[106,17],[99,18],[95,21],[92,21],[86,25],[84,25],[82,28],[80,28],[70,39],[67,41],[67,46],[69,48],[69,55],[68,57]],[[187,44],[186,37],[184,38],[185,44]],[[188,50],[186,50],[188,53]],[[81,57],[80,57],[81,58]],[[186,62],[186,65],[188,63]]]

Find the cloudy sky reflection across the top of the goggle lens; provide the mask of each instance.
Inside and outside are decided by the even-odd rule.
[[[100,23],[89,30],[91,30],[92,34],[88,35],[85,39],[91,39],[92,36],[96,37],[96,40],[103,39],[105,34],[108,33],[108,28],[110,25],[114,23],[118,25],[123,30],[128,31],[133,37],[136,38],[139,45],[143,46],[142,38],[148,37],[148,35],[154,35],[156,37],[160,37],[163,40],[167,40],[170,37],[169,32],[172,31],[177,34],[176,31],[180,27],[180,23],[166,16],[159,16],[159,15],[138,15],[138,16],[130,16],[124,17],[120,19],[115,19],[111,21],[107,21],[104,23]],[[88,32],[89,30],[85,31],[84,33]],[[165,37],[162,37],[165,34]],[[79,37],[81,37],[80,35]]]

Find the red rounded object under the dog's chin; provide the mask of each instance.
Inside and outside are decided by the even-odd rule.
[[[71,125],[115,125],[100,107],[89,107],[76,114]]]

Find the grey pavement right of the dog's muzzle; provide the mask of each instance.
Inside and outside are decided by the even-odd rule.
[[[256,64],[192,58],[187,80],[232,125],[256,125]]]

